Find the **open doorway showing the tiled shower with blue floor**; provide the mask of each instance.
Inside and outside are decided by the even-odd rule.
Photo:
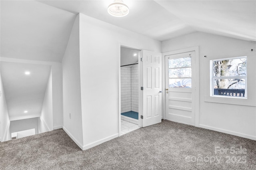
[[[140,53],[139,49],[120,47],[120,135],[140,128]]]

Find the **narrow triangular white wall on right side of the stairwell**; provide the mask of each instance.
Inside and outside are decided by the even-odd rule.
[[[39,133],[53,130],[52,111],[52,70],[50,71],[48,83],[44,94],[44,103],[38,119]]]

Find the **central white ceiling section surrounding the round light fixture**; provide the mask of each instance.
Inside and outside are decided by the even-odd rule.
[[[110,16],[107,12],[108,5],[113,0],[40,2],[74,14],[82,13],[159,41],[195,32],[193,28],[154,0],[124,0],[129,6],[130,12],[121,18]]]

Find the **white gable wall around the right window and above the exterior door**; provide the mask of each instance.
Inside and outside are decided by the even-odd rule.
[[[200,62],[199,127],[256,140],[256,44],[196,32],[162,42],[162,52],[194,46],[199,46]],[[210,60],[240,56],[248,57],[248,99],[210,97]]]

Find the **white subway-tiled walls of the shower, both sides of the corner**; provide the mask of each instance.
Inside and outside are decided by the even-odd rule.
[[[138,112],[138,64],[121,67],[121,113]]]

